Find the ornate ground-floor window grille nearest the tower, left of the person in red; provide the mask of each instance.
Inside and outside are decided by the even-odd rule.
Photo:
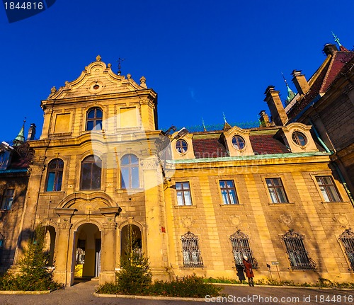
[[[191,232],[187,232],[181,237],[183,266],[186,268],[202,268],[202,255],[199,249],[199,240]]]

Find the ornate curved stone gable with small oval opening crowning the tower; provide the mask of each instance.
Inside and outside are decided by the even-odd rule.
[[[101,57],[98,55],[96,62],[91,62],[89,66],[85,67],[77,79],[66,81],[65,86],[60,87],[58,90],[53,87],[47,100],[79,98],[144,89],[146,89],[146,85],[143,77],[142,86],[139,86],[130,77],[130,74],[127,74],[127,78],[115,74],[111,69],[111,64],[106,65],[101,62]]]

